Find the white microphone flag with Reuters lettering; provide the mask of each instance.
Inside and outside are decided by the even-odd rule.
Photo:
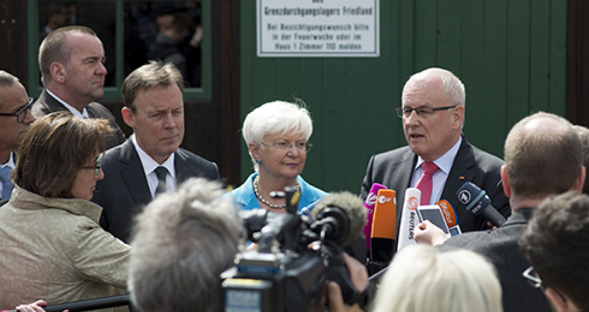
[[[403,210],[401,211],[401,225],[399,225],[397,251],[408,245],[415,244],[413,230],[418,223],[416,210],[419,207],[420,198],[421,191],[418,188],[410,187],[405,191],[405,200],[403,201]]]

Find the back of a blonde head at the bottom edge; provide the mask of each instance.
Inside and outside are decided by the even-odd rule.
[[[481,255],[417,244],[396,254],[373,311],[501,312],[501,286]]]

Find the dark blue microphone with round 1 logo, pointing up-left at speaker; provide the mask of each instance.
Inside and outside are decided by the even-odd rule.
[[[491,224],[500,227],[505,223],[505,217],[491,205],[491,200],[487,192],[481,190],[472,182],[465,182],[464,185],[456,192],[458,201],[464,204],[466,210],[475,215],[482,214]]]

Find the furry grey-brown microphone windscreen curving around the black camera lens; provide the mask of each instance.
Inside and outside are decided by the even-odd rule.
[[[327,207],[340,208],[348,217],[349,231],[346,238],[342,240],[341,247],[346,247],[358,239],[362,228],[366,223],[366,210],[363,207],[362,200],[350,192],[333,192],[321,198],[319,203],[311,211],[313,219],[317,220],[317,215]]]

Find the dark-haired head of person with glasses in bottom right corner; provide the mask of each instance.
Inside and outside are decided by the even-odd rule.
[[[544,287],[566,294],[589,310],[589,196],[575,192],[548,197],[535,209],[521,238]]]

